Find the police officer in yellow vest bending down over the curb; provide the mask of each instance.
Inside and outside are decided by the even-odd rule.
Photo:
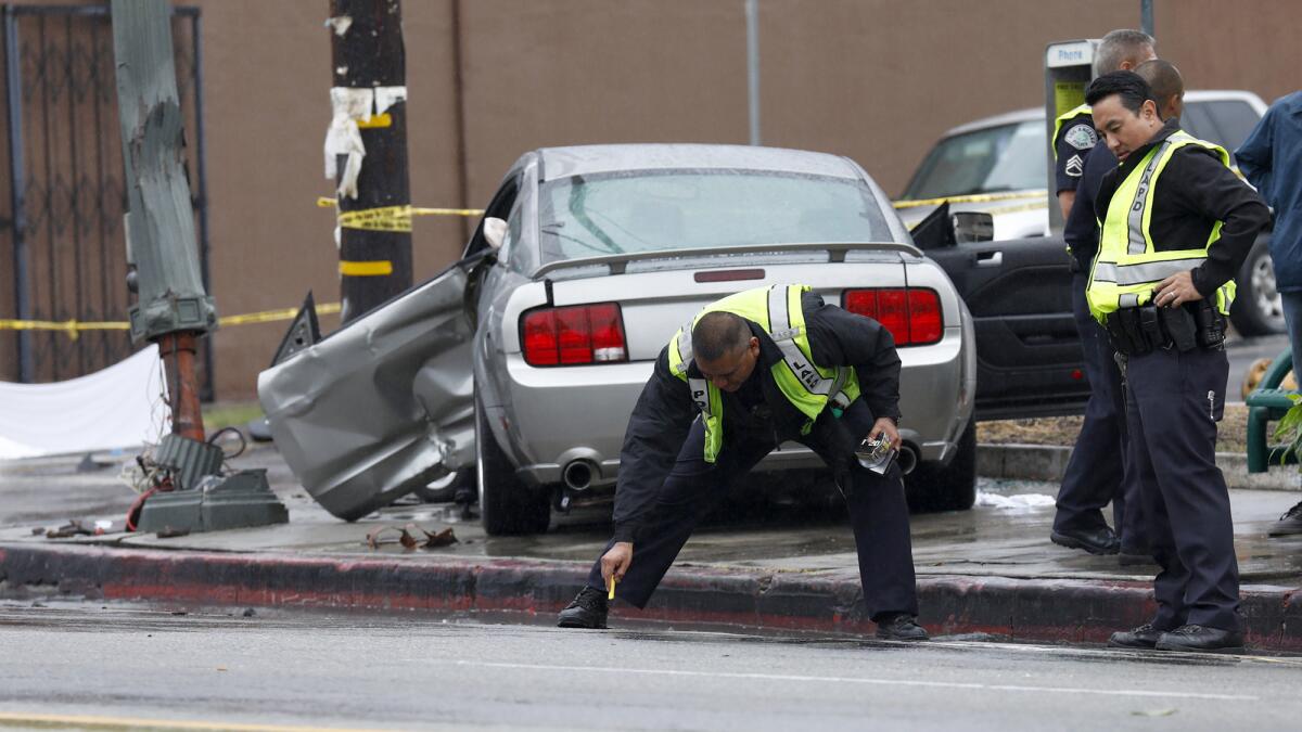
[[[900,357],[880,323],[773,285],[702,310],[660,352],[620,455],[615,535],[561,628],[605,628],[616,594],[646,607],[691,530],[784,440],[823,458],[845,494],[870,617],[883,638],[922,641],[900,469],[867,470],[865,436],[900,448]]]

